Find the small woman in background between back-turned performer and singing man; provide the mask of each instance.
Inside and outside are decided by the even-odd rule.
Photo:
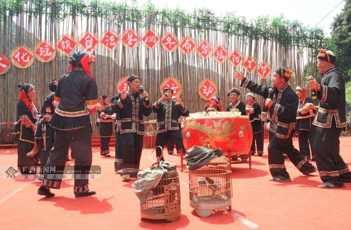
[[[103,106],[102,111],[98,111],[99,118],[99,136],[100,136],[100,154],[110,157],[110,143],[111,136],[113,136],[113,120],[116,119],[116,113],[112,112],[110,97],[106,94],[100,96],[100,103]]]

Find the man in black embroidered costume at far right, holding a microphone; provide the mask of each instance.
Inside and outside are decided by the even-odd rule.
[[[320,48],[317,67],[323,73],[319,84],[316,79],[307,82],[315,90],[319,108],[314,118],[316,133],[313,151],[319,176],[323,181],[319,188],[345,187],[344,182],[351,182],[351,172],[340,156],[339,136],[347,125],[345,117],[345,82],[334,63],[337,57],[325,47]],[[310,107],[314,107],[310,104]]]

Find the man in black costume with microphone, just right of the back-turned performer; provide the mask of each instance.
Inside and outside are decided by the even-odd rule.
[[[143,137],[145,134],[143,115],[152,112],[148,93],[140,92],[140,77],[131,75],[127,79],[129,89],[123,89],[112,97],[112,112],[118,113],[116,120],[116,145],[122,144],[122,171],[124,180],[137,177],[140,165]],[[118,151],[118,150],[116,150]],[[116,169],[116,168],[115,168]],[[117,172],[117,170],[116,170]]]

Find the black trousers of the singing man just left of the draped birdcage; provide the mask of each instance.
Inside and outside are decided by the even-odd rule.
[[[119,137],[123,149],[121,175],[129,174],[131,177],[136,177],[139,171],[144,136],[136,132],[126,132],[120,133]]]

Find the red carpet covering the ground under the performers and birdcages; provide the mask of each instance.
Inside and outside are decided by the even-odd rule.
[[[341,136],[340,141],[341,155],[350,165],[351,137]],[[151,150],[143,150],[141,169],[155,159]],[[179,167],[182,213],[174,222],[140,220],[133,180],[124,182],[114,173],[114,147],[111,153],[112,157],[101,157],[99,147],[93,148],[93,164],[102,168],[101,178],[89,180],[96,195],[75,198],[73,180],[66,179],[61,189],[52,189],[55,197],[45,198],[37,195],[39,180],[6,178],[4,168],[17,165],[17,148],[0,148],[0,229],[345,229],[351,223],[351,183],[345,188],[317,188],[318,173],[303,175],[289,160],[285,164],[292,181],[269,181],[266,151],[252,157],[251,169],[248,164],[232,164],[232,210],[217,209],[208,217],[198,216],[189,205],[188,170],[180,171],[180,155],[164,151],[165,159]]]

